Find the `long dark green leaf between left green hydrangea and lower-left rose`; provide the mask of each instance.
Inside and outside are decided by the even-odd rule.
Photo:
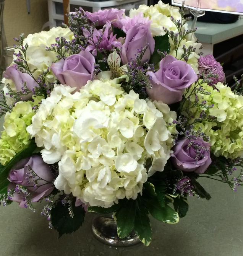
[[[21,159],[30,157],[33,151],[36,149],[36,143],[34,140],[31,140],[31,144],[28,148],[25,148],[21,152],[17,153],[8,163],[7,165],[0,166],[0,190],[6,188],[6,179],[8,177],[9,171],[13,166],[18,163]]]

